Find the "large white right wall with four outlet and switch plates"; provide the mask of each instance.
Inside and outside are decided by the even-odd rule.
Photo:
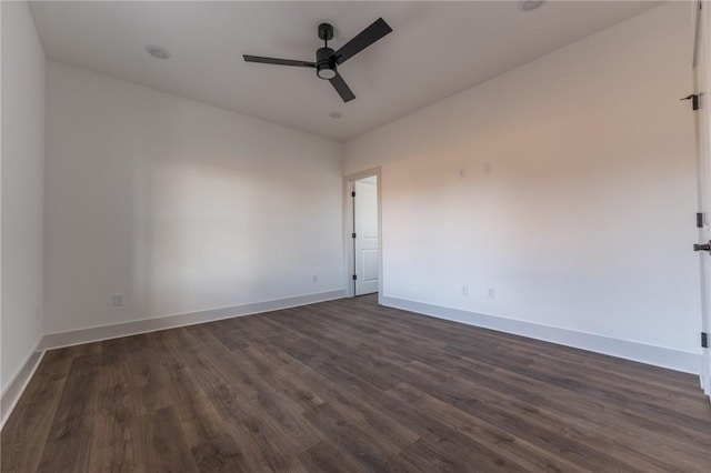
[[[663,4],[348,142],[384,300],[700,353],[692,28]]]

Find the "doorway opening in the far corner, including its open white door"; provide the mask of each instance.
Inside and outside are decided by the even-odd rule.
[[[347,178],[347,295],[379,293],[381,231],[378,170]]]

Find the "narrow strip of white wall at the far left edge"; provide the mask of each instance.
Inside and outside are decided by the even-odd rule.
[[[44,53],[26,2],[2,2],[0,304],[4,390],[42,334]],[[39,314],[39,318],[38,318]]]

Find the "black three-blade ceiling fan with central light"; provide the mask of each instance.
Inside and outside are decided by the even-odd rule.
[[[316,62],[297,61],[292,59],[262,58],[261,56],[243,54],[247,62],[262,62],[264,64],[277,66],[296,66],[298,68],[316,69],[316,74],[331,82],[333,89],[341,95],[343,102],[353,100],[356,95],[348,87],[341,74],[338,73],[338,67],[361,52],[385,34],[390,33],[392,28],[379,18],[370,27],[358,33],[353,39],[343,44],[338,51],[329,48],[329,40],[333,38],[333,27],[329,23],[319,24],[319,38],[323,40],[323,48],[316,51]]]

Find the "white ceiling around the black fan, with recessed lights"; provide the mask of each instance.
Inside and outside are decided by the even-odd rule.
[[[31,10],[51,60],[348,140],[657,4],[549,1],[523,12],[515,1],[51,1]],[[349,103],[313,70],[242,61],[312,61],[319,23],[333,24],[338,49],[379,17],[393,32],[339,68],[357,97]],[[172,57],[153,59],[146,44]]]

